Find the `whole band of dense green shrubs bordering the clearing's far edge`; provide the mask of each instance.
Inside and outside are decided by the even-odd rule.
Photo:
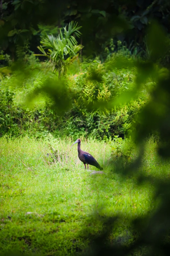
[[[74,76],[67,75],[72,107],[59,116],[52,104],[28,109],[16,103],[16,95],[10,90],[0,91],[0,135],[42,137],[48,132],[55,136],[91,135],[97,139],[107,139],[124,134],[131,129],[134,115],[140,111],[147,101],[147,95],[126,105],[110,108],[92,109],[92,103],[114,100],[122,92],[133,87],[134,71],[125,69],[106,72],[104,65],[98,60],[84,65],[83,71]],[[11,78],[8,80],[10,81]],[[33,87],[41,87],[45,77],[37,77]],[[27,92],[30,91],[30,85]],[[25,91],[24,91],[25,92]]]

